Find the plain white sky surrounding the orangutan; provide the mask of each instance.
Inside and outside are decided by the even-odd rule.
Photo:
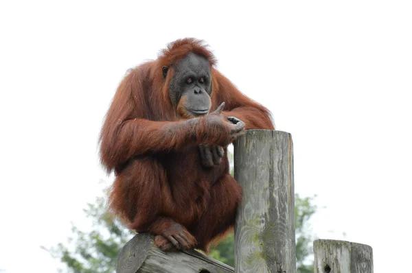
[[[404,272],[411,1],[102,2],[0,2],[0,269],[56,272],[40,246],[87,226],[82,208],[111,182],[97,137],[117,84],[191,36],[293,135],[295,189],[326,206],[317,237],[369,244],[375,272]]]

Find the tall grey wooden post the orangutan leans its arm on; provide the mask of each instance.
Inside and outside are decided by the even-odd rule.
[[[293,143],[287,132],[248,130],[235,143],[242,204],[235,272],[296,272]]]

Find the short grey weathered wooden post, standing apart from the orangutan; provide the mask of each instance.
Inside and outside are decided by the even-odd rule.
[[[373,273],[372,248],[350,241],[313,242],[314,273]]]

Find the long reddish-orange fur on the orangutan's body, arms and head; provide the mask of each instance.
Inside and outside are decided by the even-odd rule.
[[[173,223],[181,224],[182,236],[194,236],[187,247],[207,250],[233,226],[241,189],[229,175],[226,149],[220,165],[211,169],[201,166],[198,154],[201,143],[227,145],[229,127],[222,127],[217,115],[181,119],[183,110],[170,101],[173,64],[190,52],[211,64],[211,111],[225,102],[222,115],[237,117],[247,129],[274,128],[268,110],[214,68],[216,59],[203,42],[186,38],[168,45],[157,60],[132,69],[119,84],[100,133],[100,157],[116,175],[111,211],[130,228],[163,235],[172,232]],[[169,67],[166,78],[163,66]]]

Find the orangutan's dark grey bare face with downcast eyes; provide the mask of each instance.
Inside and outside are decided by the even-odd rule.
[[[206,115],[211,106],[211,71],[207,59],[191,53],[173,68],[169,94],[178,115],[185,118]]]

